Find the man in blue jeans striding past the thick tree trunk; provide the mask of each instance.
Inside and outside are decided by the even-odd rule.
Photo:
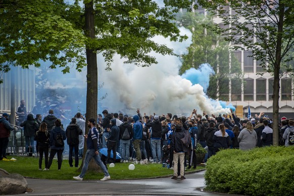
[[[109,175],[104,163],[101,161],[101,158],[99,156],[99,152],[97,149],[97,146],[99,145],[99,143],[98,143],[99,142],[99,134],[98,134],[97,129],[95,127],[96,121],[95,121],[95,119],[90,118],[88,120],[87,124],[88,124],[88,127],[90,128],[90,130],[89,130],[88,134],[85,135],[85,138],[87,140],[87,152],[86,152],[85,159],[84,159],[84,165],[83,165],[83,168],[82,168],[80,175],[74,176],[73,179],[78,180],[78,181],[82,181],[87,170],[88,170],[89,162],[91,161],[92,158],[94,158],[97,165],[99,165],[104,172],[104,178],[102,178],[101,181],[109,180],[110,175]],[[89,137],[89,139],[87,139],[88,137]]]

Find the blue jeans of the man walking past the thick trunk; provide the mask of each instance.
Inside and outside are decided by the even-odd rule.
[[[83,165],[80,177],[83,178],[85,176],[85,174],[86,174],[86,172],[88,170],[89,162],[91,161],[92,158],[94,158],[96,164],[101,167],[101,169],[104,172],[104,176],[109,176],[109,173],[108,173],[105,165],[101,161],[100,156],[95,154],[95,150],[88,149],[87,152],[86,152],[86,155],[85,155],[84,165]]]

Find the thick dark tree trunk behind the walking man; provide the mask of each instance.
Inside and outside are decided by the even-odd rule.
[[[95,29],[94,29],[94,9],[93,9],[93,2],[89,2],[85,4],[85,35],[89,39],[95,38]],[[97,96],[98,96],[98,75],[97,75],[97,55],[94,53],[92,48],[89,48],[86,45],[86,57],[87,57],[87,98],[86,98],[86,123],[90,118],[97,119]],[[87,128],[85,133],[87,134]],[[89,138],[90,139],[90,138]],[[87,142],[85,140],[84,144],[84,154],[83,154],[83,161],[85,152],[87,149]],[[81,170],[83,166],[83,162],[79,170]],[[92,159],[89,163],[88,171],[97,171],[101,172],[99,166],[94,162]]]

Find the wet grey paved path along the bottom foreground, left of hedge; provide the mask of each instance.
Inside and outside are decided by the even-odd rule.
[[[167,177],[103,182],[26,178],[28,187],[33,190],[26,195],[227,195],[202,191],[204,173],[186,174],[185,180]]]

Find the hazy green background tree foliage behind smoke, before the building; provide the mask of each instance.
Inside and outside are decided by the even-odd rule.
[[[230,54],[228,42],[204,27],[214,25],[213,17],[197,12],[183,12],[178,20],[180,25],[192,32],[192,43],[188,47],[188,54],[182,57],[180,74],[190,68],[197,69],[203,63],[209,63],[216,74],[210,78],[207,95],[212,99],[229,101],[229,80],[242,77],[241,67],[234,55]]]

